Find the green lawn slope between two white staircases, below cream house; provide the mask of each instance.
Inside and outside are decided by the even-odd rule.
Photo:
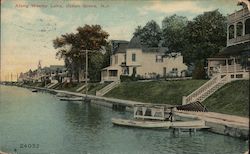
[[[182,104],[182,96],[187,96],[207,80],[122,82],[107,93],[106,97],[145,103]]]

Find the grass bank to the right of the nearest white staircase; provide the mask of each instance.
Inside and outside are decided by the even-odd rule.
[[[226,84],[203,104],[212,112],[249,117],[249,80]]]

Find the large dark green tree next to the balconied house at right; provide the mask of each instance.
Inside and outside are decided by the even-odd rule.
[[[226,46],[226,17],[218,10],[198,15],[188,22],[185,37],[186,61],[205,61]]]

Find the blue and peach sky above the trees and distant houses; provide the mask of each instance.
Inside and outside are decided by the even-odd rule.
[[[192,20],[206,11],[231,14],[237,0],[1,0],[1,80],[16,80],[29,69],[63,65],[52,41],[85,24],[99,24],[109,40],[130,40],[138,25],[166,16]]]

